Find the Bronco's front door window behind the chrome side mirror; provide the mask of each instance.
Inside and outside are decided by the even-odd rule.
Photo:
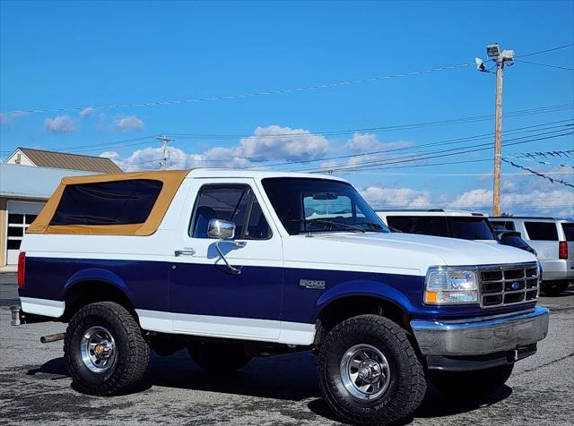
[[[265,240],[271,231],[255,195],[246,185],[205,185],[201,188],[190,226],[193,238],[208,238],[211,219],[233,222],[235,238]]]

